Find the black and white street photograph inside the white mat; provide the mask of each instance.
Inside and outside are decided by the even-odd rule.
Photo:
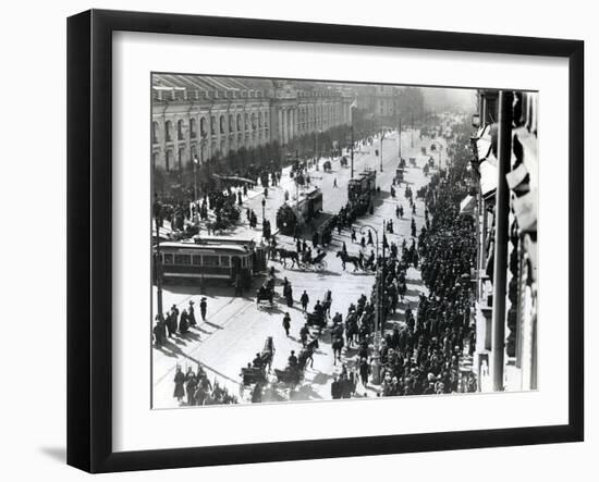
[[[152,409],[538,390],[537,91],[149,84]]]

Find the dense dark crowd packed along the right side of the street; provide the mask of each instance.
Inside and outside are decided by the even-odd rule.
[[[345,322],[341,314],[333,318],[335,326],[344,326],[349,347],[357,348],[352,360],[345,360],[342,372],[331,386],[331,396],[354,396],[357,382],[364,387],[374,380],[380,382],[381,396],[428,395],[452,392],[474,392],[475,375],[461,370],[467,354],[473,355],[476,339],[472,321],[473,287],[470,268],[475,263],[476,239],[473,220],[460,214],[460,201],[467,193],[464,150],[454,150],[453,163],[435,173],[418,190],[425,202],[425,225],[417,235],[414,218],[412,242],[401,246],[389,244],[377,259],[377,283],[370,297],[362,295],[350,306]],[[413,214],[416,205],[413,193],[404,193]],[[403,207],[396,210],[403,218]],[[387,223],[387,233],[392,233]],[[369,233],[368,233],[369,234]],[[357,240],[355,234],[352,240]],[[360,245],[371,245],[372,238],[362,237]],[[420,268],[428,294],[420,294],[416,307],[405,304],[403,322],[387,323],[404,301],[407,270]],[[377,313],[377,310],[380,310]],[[374,338],[377,329],[382,337],[378,353]],[[389,325],[391,324],[391,325]],[[334,337],[332,338],[334,339]]]

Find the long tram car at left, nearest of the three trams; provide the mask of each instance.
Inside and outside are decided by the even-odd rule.
[[[253,243],[253,242],[252,242]],[[166,283],[174,281],[222,280],[235,281],[237,274],[245,287],[252,275],[266,271],[264,249],[242,242],[219,239],[197,242],[160,243],[155,251],[155,260],[160,262]]]

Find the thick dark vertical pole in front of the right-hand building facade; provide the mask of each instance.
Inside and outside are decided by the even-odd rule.
[[[496,238],[493,265],[493,313],[491,337],[491,374],[493,392],[502,392],[505,353],[505,293],[508,277],[508,239],[510,189],[505,175],[512,158],[512,102],[511,91],[499,92],[498,183],[496,205]]]

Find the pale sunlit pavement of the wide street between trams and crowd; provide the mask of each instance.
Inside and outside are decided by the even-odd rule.
[[[447,146],[443,138],[420,137],[419,131],[402,132],[402,157],[404,159],[415,158],[415,165],[407,164],[404,174],[404,183],[401,187],[395,186],[396,195],[393,198],[390,194],[395,170],[399,164],[399,145],[398,132],[389,132],[382,140],[375,138],[371,145],[364,143],[355,150],[354,171],[355,175],[369,169],[377,171],[377,186],[380,193],[375,198],[374,213],[360,217],[354,224],[358,242],[362,233],[367,235],[368,230],[375,228],[378,233],[379,242],[382,240],[383,221],[392,220],[394,225],[393,234],[387,234],[389,244],[395,243],[401,246],[406,239],[407,245],[412,242],[411,222],[414,218],[417,232],[419,233],[425,223],[423,199],[415,199],[415,214],[412,214],[408,201],[404,197],[405,186],[409,186],[415,193],[425,185],[429,177],[423,172],[424,165],[428,162],[430,156],[435,161],[435,168],[429,172],[436,172],[439,162],[447,162],[444,159]],[[437,149],[430,151],[431,144]],[[441,149],[439,149],[441,146]],[[427,155],[423,155],[421,148],[426,148]],[[376,149],[382,150],[382,164],[380,156],[376,156]],[[344,155],[350,158],[349,152]],[[332,160],[331,172],[322,170],[322,163],[319,162],[319,169],[311,168],[309,176],[311,183],[322,190],[323,212],[316,220],[316,225],[322,220],[337,214],[339,210],[347,202],[347,182],[351,177],[350,166],[340,166],[339,158]],[[381,171],[382,168],[382,171]],[[270,220],[271,225],[276,226],[276,214],[279,207],[284,201],[285,190],[292,198],[296,195],[294,180],[290,177],[290,168],[283,170],[281,182],[277,187],[270,187],[268,198],[266,198],[265,215]],[[249,190],[248,196],[243,201],[242,221],[239,225],[228,232],[225,236],[241,239],[254,239],[257,244],[261,242],[261,219],[262,219],[262,188],[255,186]],[[395,210],[402,206],[404,210],[403,219],[398,219]],[[250,228],[245,219],[245,210],[254,210],[258,217],[258,225]],[[201,232],[200,232],[201,233]],[[307,238],[308,244],[310,239]],[[281,234],[277,235],[279,247],[290,250],[295,249],[294,239]],[[267,337],[271,336],[274,345],[274,355],[272,359],[272,369],[283,369],[286,366],[288,358],[292,350],[297,354],[302,348],[300,339],[300,330],[306,319],[298,302],[301,294],[305,291],[309,296],[309,308],[311,309],[317,300],[322,300],[325,293],[332,292],[331,317],[340,312],[343,317],[347,313],[351,304],[356,304],[360,295],[369,296],[375,283],[375,273],[372,271],[358,270],[354,272],[352,264],[347,264],[346,270],[342,269],[342,262],[337,257],[337,251],[342,249],[343,243],[346,245],[349,255],[358,255],[362,249],[359,243],[353,243],[351,231],[344,228],[341,233],[334,230],[332,242],[325,248],[327,268],[322,271],[314,269],[284,268],[279,261],[270,261],[269,267],[274,267],[276,292],[278,297],[273,307],[258,305],[256,302],[256,288],[264,282],[264,277],[254,280],[253,288],[246,291],[243,297],[234,296],[234,288],[227,283],[209,284],[201,293],[197,285],[179,284],[163,286],[163,306],[170,309],[175,305],[180,310],[188,306],[190,300],[195,302],[195,317],[198,325],[192,327],[184,335],[178,334],[160,348],[152,349],[154,367],[154,392],[152,404],[155,408],[179,407],[180,403],[173,397],[174,375],[176,367],[181,367],[183,373],[191,367],[195,371],[198,363],[207,372],[211,383],[217,382],[219,386],[227,387],[229,393],[240,397],[240,401],[249,401],[250,393],[248,387],[243,387],[241,369],[249,363],[257,353],[261,351]],[[311,245],[311,244],[310,244]],[[369,256],[372,246],[367,246],[364,250],[366,257]],[[294,306],[288,308],[282,296],[282,281],[286,277],[293,286]],[[413,310],[417,307],[418,295],[426,288],[420,280],[420,272],[413,267],[407,270],[406,279],[407,292],[405,302],[400,302],[399,310],[388,320],[387,329],[392,329],[393,324],[400,326],[405,323],[405,309],[411,306]],[[156,302],[156,286],[154,300]],[[207,299],[206,321],[199,317],[198,305],[201,296]],[[156,306],[155,306],[156,312]],[[285,335],[282,325],[283,316],[289,312],[291,316],[290,336]],[[314,330],[313,330],[314,331]],[[278,401],[286,399],[319,400],[331,398],[331,383],[333,375],[340,373],[342,363],[347,368],[353,368],[356,363],[356,347],[349,348],[347,345],[342,350],[341,361],[333,359],[331,334],[325,330],[319,337],[319,347],[314,354],[314,364],[309,364],[304,374],[303,383],[295,390],[269,384],[265,387],[262,401]],[[273,378],[271,373],[269,375]],[[355,396],[377,396],[380,386],[358,384]]]

